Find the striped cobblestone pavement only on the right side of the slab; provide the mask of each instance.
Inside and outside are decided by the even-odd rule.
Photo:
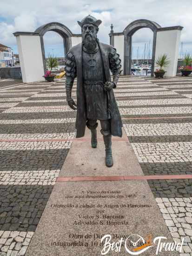
[[[138,98],[122,98],[118,105],[144,174],[192,174],[192,79],[140,79],[151,83],[148,93],[139,87]],[[154,91],[159,97],[152,96]],[[180,255],[192,256],[192,180],[148,180],[148,184],[173,240],[185,238]]]

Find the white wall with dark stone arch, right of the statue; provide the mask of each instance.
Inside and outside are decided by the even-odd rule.
[[[161,27],[158,23],[151,20],[135,20],[126,26],[123,32],[114,33],[111,30],[110,43],[120,54],[122,70],[124,75],[131,74],[132,59],[132,35],[140,28],[147,27],[153,32],[152,47],[152,76],[155,68],[155,59],[161,54],[167,54],[170,65],[166,68],[166,76],[175,76],[177,72],[177,61],[179,56],[179,41],[183,27]]]

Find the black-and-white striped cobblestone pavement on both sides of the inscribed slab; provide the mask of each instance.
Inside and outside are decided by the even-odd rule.
[[[192,77],[120,77],[114,89],[144,175],[192,174]],[[72,92],[76,100],[76,82]],[[23,256],[75,137],[64,80],[0,80],[0,256]],[[192,180],[148,180],[173,240],[192,256]]]

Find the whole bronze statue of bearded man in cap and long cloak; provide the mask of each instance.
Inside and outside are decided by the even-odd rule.
[[[97,148],[97,120],[106,148],[106,166],[113,166],[112,135],[122,137],[122,121],[115,101],[121,65],[119,54],[111,45],[97,39],[101,20],[88,15],[78,21],[82,43],[72,47],[66,54],[66,101],[76,110],[76,138],[85,135],[86,126],[91,130],[92,148]],[[113,74],[111,81],[110,70]],[[71,97],[73,81],[77,77],[77,104]]]

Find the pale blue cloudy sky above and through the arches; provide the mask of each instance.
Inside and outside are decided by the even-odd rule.
[[[0,43],[12,47],[17,53],[14,32],[33,32],[53,21],[63,23],[74,34],[80,34],[77,20],[89,14],[102,20],[98,37],[108,44],[112,23],[114,32],[122,32],[130,22],[138,19],[155,21],[161,27],[183,26],[183,52],[192,54],[192,0],[0,0]],[[149,49],[149,41],[152,48],[152,35],[148,28],[133,35],[132,58],[141,58],[145,44]],[[59,34],[47,32],[44,45],[46,56],[49,53],[64,56],[63,40]]]

